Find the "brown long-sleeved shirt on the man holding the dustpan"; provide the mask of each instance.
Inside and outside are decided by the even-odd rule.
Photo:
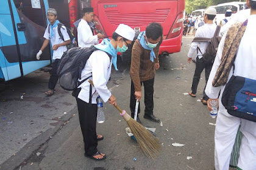
[[[135,91],[141,91],[140,82],[151,80],[155,77],[155,63],[159,63],[158,53],[159,53],[160,43],[155,47],[154,62],[150,60],[151,50],[142,49],[140,44],[135,41],[132,47],[132,61],[130,64],[130,78],[135,87]]]

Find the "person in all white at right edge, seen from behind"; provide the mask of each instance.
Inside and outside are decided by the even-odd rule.
[[[246,0],[246,4],[251,7],[251,16],[244,22],[232,25],[224,34],[205,89],[210,97],[208,103],[212,100],[219,103],[215,127],[216,170],[229,169],[230,154],[239,126],[243,138],[237,169],[254,170],[256,167],[256,123],[230,115],[222,104],[222,94],[232,75],[256,80],[256,1]],[[210,104],[208,109],[212,110]]]

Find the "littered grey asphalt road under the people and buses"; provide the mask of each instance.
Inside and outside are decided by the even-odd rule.
[[[187,63],[192,39],[183,38],[181,52],[160,56],[154,114],[163,126],[144,119],[143,111],[140,114],[144,126],[156,128],[162,144],[158,158],[151,160],[141,152],[126,134],[126,121],[108,103],[104,104],[105,123],[97,124],[98,133],[104,135],[98,149],[107,159],[84,157],[76,101],[59,84],[52,97],[44,96],[51,69],[45,67],[0,86],[0,169],[214,169],[215,126],[209,123],[215,124],[215,119],[197,101],[204,89],[204,73],[197,97],[183,95],[190,91],[195,68]],[[119,71],[112,70],[108,87],[119,106],[130,112],[129,68],[119,63]],[[141,110],[143,102],[142,98]]]

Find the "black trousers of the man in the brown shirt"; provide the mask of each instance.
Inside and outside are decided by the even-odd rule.
[[[155,78],[152,78],[151,80],[141,81],[140,86],[143,84],[144,86],[144,104],[145,104],[145,115],[152,115],[153,109],[154,109],[154,101],[153,101],[153,94],[154,94],[154,81]],[[134,117],[134,111],[135,111],[135,105],[136,105],[136,99],[135,99],[135,88],[134,84],[131,81],[130,86],[130,112],[132,113],[132,117]],[[140,103],[138,106],[138,114],[140,114]]]

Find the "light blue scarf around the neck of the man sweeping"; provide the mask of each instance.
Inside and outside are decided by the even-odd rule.
[[[115,67],[116,70],[117,66],[116,66],[116,61],[117,61],[117,51],[116,49],[112,46],[112,44],[110,43],[110,39],[108,38],[104,38],[101,42],[101,44],[97,44],[94,46],[96,49],[102,50],[104,52],[109,53],[110,55],[112,55],[112,64]]]

